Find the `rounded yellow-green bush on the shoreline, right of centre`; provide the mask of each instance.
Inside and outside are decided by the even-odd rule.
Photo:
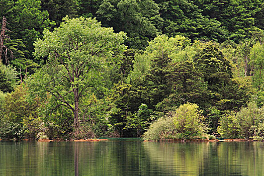
[[[207,127],[203,123],[199,106],[192,103],[181,105],[174,112],[159,118],[144,133],[144,140],[207,139]]]

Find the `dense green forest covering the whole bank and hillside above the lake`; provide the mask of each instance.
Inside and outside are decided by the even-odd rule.
[[[264,139],[263,1],[0,9],[2,139]]]

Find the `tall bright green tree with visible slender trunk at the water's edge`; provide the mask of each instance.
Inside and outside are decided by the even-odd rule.
[[[35,56],[48,56],[48,63],[58,71],[44,84],[46,91],[72,111],[75,137],[80,132],[81,97],[89,89],[100,89],[101,71],[120,59],[124,38],[123,32],[116,34],[111,28],[102,28],[95,19],[65,18],[59,28],[45,30],[43,40],[35,43]],[[66,96],[70,99],[64,99]]]

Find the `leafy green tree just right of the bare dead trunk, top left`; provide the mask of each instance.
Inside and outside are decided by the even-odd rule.
[[[10,38],[21,39],[26,45],[26,50],[29,51],[24,52],[26,58],[33,59],[33,43],[41,37],[45,28],[53,25],[48,19],[49,14],[47,11],[41,11],[40,0],[16,1],[12,12],[13,14],[7,17],[10,24],[8,28],[12,31]]]

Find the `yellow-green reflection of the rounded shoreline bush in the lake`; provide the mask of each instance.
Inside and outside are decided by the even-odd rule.
[[[144,149],[150,165],[173,175],[199,175],[204,168],[204,156],[209,153],[208,143],[200,142],[145,142]]]

